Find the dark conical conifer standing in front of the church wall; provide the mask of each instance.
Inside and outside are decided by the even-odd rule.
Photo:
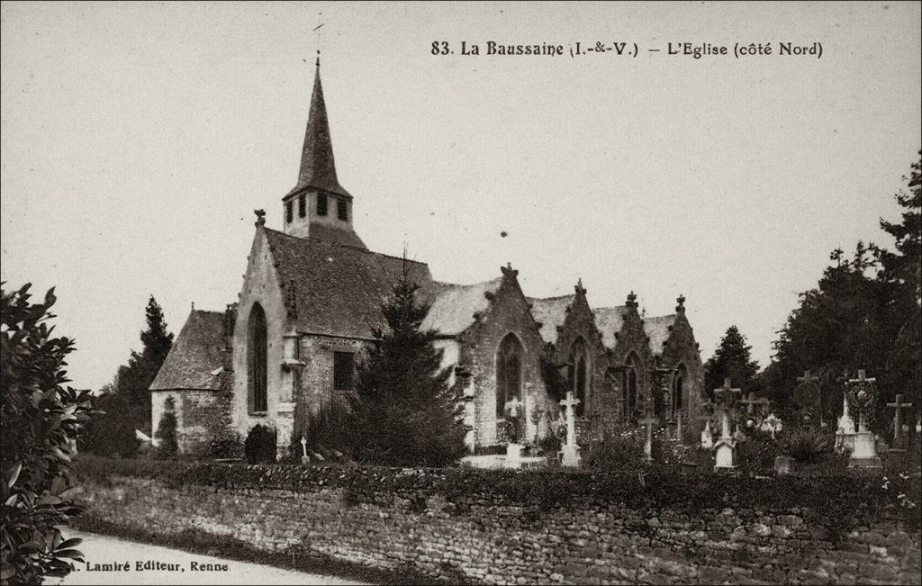
[[[406,271],[382,304],[386,332],[358,369],[352,404],[353,457],[394,466],[444,466],[466,451],[464,398],[448,384],[435,333],[422,331],[429,307]]]

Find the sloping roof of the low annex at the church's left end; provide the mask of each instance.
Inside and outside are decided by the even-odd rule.
[[[224,312],[193,310],[164,358],[151,391],[217,391],[221,377],[211,374],[224,364]]]

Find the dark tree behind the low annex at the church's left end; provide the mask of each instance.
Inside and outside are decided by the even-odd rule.
[[[152,431],[148,389],[170,352],[173,334],[167,332],[163,311],[153,296],[145,313],[148,327],[141,332],[141,351],[131,352],[128,364],[119,367],[115,380],[97,398],[106,415],[89,430],[85,447],[102,456],[134,457],[139,445],[135,430]]]

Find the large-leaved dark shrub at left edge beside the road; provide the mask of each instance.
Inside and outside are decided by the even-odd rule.
[[[30,302],[30,285],[0,287],[0,581],[41,583],[65,576],[79,539],[62,536],[58,525],[80,511],[70,502],[74,486],[72,447],[90,416],[89,391],[65,387],[65,358],[73,340],[53,337],[54,289]]]

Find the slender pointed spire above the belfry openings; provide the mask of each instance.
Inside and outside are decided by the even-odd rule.
[[[308,187],[349,196],[349,192],[343,189],[337,180],[330,125],[326,119],[324,88],[320,84],[319,54],[313,76],[311,111],[307,118],[307,130],[304,133],[304,147],[301,150],[301,170],[298,172],[298,184],[289,195]]]

